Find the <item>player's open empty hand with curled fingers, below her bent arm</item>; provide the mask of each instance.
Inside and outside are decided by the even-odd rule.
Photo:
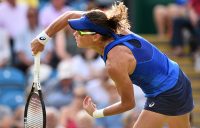
[[[86,96],[83,100],[83,108],[87,111],[87,113],[93,116],[93,112],[97,109],[96,104],[92,102],[91,97]]]

